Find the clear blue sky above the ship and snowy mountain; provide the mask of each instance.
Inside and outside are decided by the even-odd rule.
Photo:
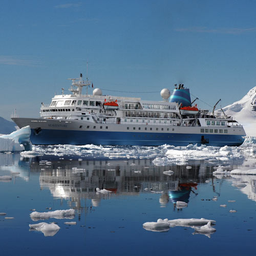
[[[95,88],[159,91],[103,94],[161,100],[184,83],[199,107],[224,107],[256,86],[255,11],[250,0],[2,0],[0,116],[38,117],[87,61]]]

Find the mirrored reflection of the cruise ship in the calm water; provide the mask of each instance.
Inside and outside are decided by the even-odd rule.
[[[177,201],[189,202],[191,194],[197,196],[199,183],[212,179],[213,166],[193,163],[185,165],[156,166],[152,159],[128,160],[51,160],[52,164],[35,161],[30,164],[31,173],[39,173],[41,189],[50,189],[54,198],[69,199],[75,209],[85,207],[90,199],[92,206],[101,200],[140,193],[159,194],[160,207]],[[173,170],[173,175],[163,172]],[[96,193],[96,188],[111,193]],[[177,208],[182,208],[178,207]]]

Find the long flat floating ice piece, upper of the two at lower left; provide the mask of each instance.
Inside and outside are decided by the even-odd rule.
[[[74,209],[69,210],[55,210],[55,211],[48,211],[48,212],[37,212],[34,211],[30,214],[30,218],[33,221],[37,220],[47,220],[50,218],[55,219],[73,219],[75,215]]]

